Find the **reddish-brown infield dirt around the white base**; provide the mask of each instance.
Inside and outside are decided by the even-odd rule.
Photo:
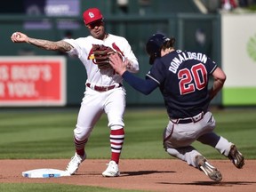
[[[0,183],[65,183],[104,188],[140,189],[175,192],[254,192],[256,191],[256,160],[246,160],[239,170],[228,160],[210,160],[222,173],[220,183],[210,180],[203,172],[174,159],[120,160],[121,176],[104,178],[107,160],[86,159],[76,175],[60,178],[24,178],[21,172],[52,168],[64,170],[69,159],[0,160]]]

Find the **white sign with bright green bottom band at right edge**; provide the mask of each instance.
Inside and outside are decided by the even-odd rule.
[[[221,16],[224,106],[256,105],[256,14]]]

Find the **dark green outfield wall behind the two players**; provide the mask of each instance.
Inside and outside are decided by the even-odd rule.
[[[63,19],[66,25],[63,25]],[[29,22],[28,22],[29,21]],[[61,22],[60,22],[61,21]],[[144,77],[150,66],[148,56],[145,52],[145,43],[148,37],[156,32],[164,33],[166,36],[175,36],[176,47],[183,50],[193,50],[204,52],[221,65],[220,47],[220,15],[204,15],[197,13],[179,14],[148,14],[141,16],[138,14],[119,15],[116,17],[108,12],[105,14],[105,21],[109,33],[125,36],[132,45],[133,52],[140,60],[140,73],[138,76]],[[28,24],[37,23],[41,28],[30,28]],[[65,24],[64,22],[64,24]],[[61,25],[62,23],[62,25]],[[40,50],[30,44],[13,44],[10,40],[12,32],[22,31],[36,38],[46,38],[52,41],[65,37],[67,32],[72,33],[72,37],[87,36],[88,31],[84,28],[81,17],[29,17],[24,15],[4,15],[0,16],[0,36],[1,52],[0,57],[65,57],[66,58],[66,102],[63,106],[79,105],[84,93],[84,81],[86,79],[85,69],[79,60],[69,58],[60,52],[49,52]],[[32,25],[33,26],[33,25]],[[72,28],[67,28],[67,27]],[[1,58],[0,58],[1,60]],[[3,83],[3,79],[2,81]],[[134,91],[126,85],[127,105],[160,105],[164,106],[162,96],[158,90],[145,96]],[[221,94],[212,100],[212,105],[221,105]],[[44,106],[40,104],[39,106]],[[47,104],[47,106],[49,106]],[[50,105],[51,106],[51,105]]]

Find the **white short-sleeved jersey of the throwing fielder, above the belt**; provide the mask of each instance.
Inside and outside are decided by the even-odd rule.
[[[129,69],[130,72],[136,73],[139,71],[139,63],[132,48],[127,40],[122,36],[114,36],[108,34],[108,37],[104,40],[96,39],[92,36],[80,37],[77,39],[64,39],[68,44],[71,44],[74,49],[68,52],[69,55],[77,55],[78,58],[83,62],[84,67],[87,71],[87,81],[86,83],[96,84],[99,86],[109,86],[112,84],[119,84],[123,82],[122,76],[119,76],[115,71],[110,69],[100,70],[97,65],[95,65],[90,56],[92,54],[92,44],[104,44],[109,46],[117,52],[123,52],[124,57],[130,60],[132,68]]]

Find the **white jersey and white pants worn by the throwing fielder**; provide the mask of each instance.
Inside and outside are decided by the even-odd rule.
[[[86,140],[100,116],[105,112],[108,116],[108,127],[124,127],[125,89],[120,86],[123,77],[116,74],[113,68],[99,69],[92,62],[92,44],[104,44],[116,52],[122,52],[124,57],[130,60],[132,67],[129,69],[135,73],[139,71],[139,63],[132,52],[130,44],[124,37],[108,35],[104,40],[95,39],[92,36],[77,39],[65,39],[74,48],[68,52],[69,55],[77,55],[83,62],[87,72],[84,98],[77,117],[74,135],[76,140]],[[95,88],[115,85],[115,89],[106,92],[98,92]],[[114,129],[114,128],[113,128]]]

